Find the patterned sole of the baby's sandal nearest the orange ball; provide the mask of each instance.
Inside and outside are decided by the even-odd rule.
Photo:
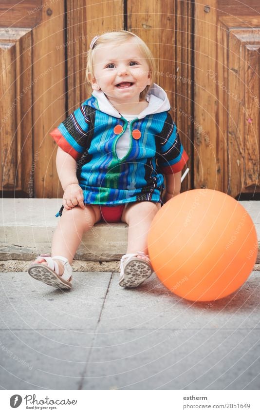
[[[152,270],[148,263],[144,263],[144,260],[131,260],[124,268],[124,276],[119,280],[119,285],[123,288],[136,288],[151,274]]]

